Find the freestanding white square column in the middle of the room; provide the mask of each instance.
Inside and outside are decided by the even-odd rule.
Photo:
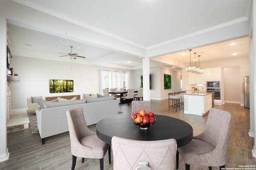
[[[150,101],[150,89],[149,89],[149,58],[144,58],[142,60],[142,75],[143,75],[143,100],[144,101]]]

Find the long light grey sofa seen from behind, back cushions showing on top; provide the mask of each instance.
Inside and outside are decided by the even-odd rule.
[[[44,138],[68,131],[67,110],[82,107],[86,124],[93,125],[106,117],[118,115],[118,104],[118,100],[113,97],[44,103],[44,109],[36,110],[42,144]]]

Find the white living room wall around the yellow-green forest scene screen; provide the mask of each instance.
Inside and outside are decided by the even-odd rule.
[[[13,56],[11,67],[14,67],[15,73],[20,76],[20,82],[11,83],[12,109],[27,108],[26,100],[30,96],[42,95],[43,97],[47,97],[82,95],[83,93],[101,94],[102,91],[99,90],[99,69],[102,67],[75,64],[72,63],[71,59],[70,61],[70,63],[65,63]],[[74,92],[50,93],[50,79],[74,80]],[[132,81],[130,83],[132,83]]]

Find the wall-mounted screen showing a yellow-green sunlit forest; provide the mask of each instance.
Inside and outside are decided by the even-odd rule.
[[[73,80],[50,80],[50,93],[74,92]]]

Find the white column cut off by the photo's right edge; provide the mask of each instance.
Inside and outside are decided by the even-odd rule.
[[[255,106],[256,106],[256,90],[255,90],[255,85],[256,85],[256,74],[255,74],[255,69],[254,66],[256,64],[256,57],[255,57],[255,51],[256,51],[256,3],[255,1],[252,2],[252,11],[250,15],[250,27],[251,27],[251,32],[250,32],[250,56],[249,56],[249,61],[250,61],[250,132],[249,135],[255,136],[255,122],[256,122],[256,116],[255,116]],[[256,157],[256,140],[254,137],[254,146],[252,150],[252,156]]]

